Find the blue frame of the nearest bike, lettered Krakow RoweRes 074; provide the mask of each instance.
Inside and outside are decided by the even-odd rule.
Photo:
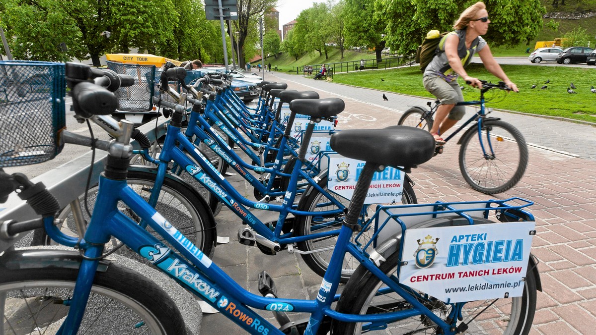
[[[130,218],[117,210],[117,202],[123,201],[149,224],[173,250],[167,248],[150,233],[138,226]],[[73,298],[69,301],[71,306],[66,321],[58,331],[59,334],[76,333],[85,311],[86,301],[92,286],[92,278],[98,267],[98,259],[104,248],[104,243],[110,237],[116,237],[126,246],[148,259],[161,271],[176,280],[183,287],[200,296],[213,308],[218,309],[223,315],[238,324],[246,331],[260,334],[283,334],[265,318],[253,312],[251,308],[277,311],[308,312],[311,313],[309,325],[305,334],[315,334],[324,317],[331,317],[344,322],[384,324],[389,321],[400,320],[414,315],[424,314],[434,323],[439,325],[445,334],[454,334],[450,325],[441,320],[432,311],[427,309],[407,288],[401,287],[393,275],[387,277],[374,263],[365,256],[360,249],[350,242],[352,230],[342,226],[338,243],[331,256],[327,273],[322,280],[319,294],[315,300],[263,298],[248,292],[232,280],[212,260],[204,255],[192,242],[172,227],[158,212],[147,202],[143,201],[128,187],[126,180],[110,180],[100,177],[100,192],[98,192],[96,211],[91,218],[84,240],[77,240],[64,235],[49,218],[45,220],[48,235],[58,243],[67,246],[79,246],[85,250],[85,259],[81,262],[79,276],[77,277]],[[178,251],[184,258],[181,258]],[[381,278],[390,289],[395,290],[414,308],[378,315],[350,315],[342,314],[331,309],[331,303],[339,299],[336,295],[339,286],[339,277],[344,254],[349,252],[355,256],[374,275]],[[217,284],[216,284],[217,283]]]

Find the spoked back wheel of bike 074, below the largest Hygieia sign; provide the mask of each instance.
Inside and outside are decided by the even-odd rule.
[[[381,264],[385,274],[395,274],[399,263],[399,251],[393,253]],[[364,267],[362,267],[364,269]],[[378,293],[387,286],[368,271],[359,269],[355,278],[346,284],[337,305],[339,312],[348,314],[380,314],[412,308],[401,296],[393,292]],[[356,277],[358,276],[358,277]],[[466,334],[527,334],[532,327],[536,310],[536,275],[528,267],[524,281],[523,296],[508,299],[492,299],[465,303],[462,308],[461,322],[468,324]],[[411,293],[443,320],[449,317],[452,305],[430,296]],[[387,329],[365,331],[363,324],[333,322],[333,334],[440,334],[441,329],[429,318],[416,315],[404,320],[397,320],[387,325]]]

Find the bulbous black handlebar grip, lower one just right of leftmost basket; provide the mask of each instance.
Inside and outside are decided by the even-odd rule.
[[[72,95],[75,112],[82,117],[109,115],[118,108],[118,99],[113,93],[89,82],[76,84]]]

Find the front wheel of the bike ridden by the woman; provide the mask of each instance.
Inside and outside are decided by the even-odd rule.
[[[485,151],[493,155],[482,156],[476,131],[467,132],[461,139],[460,171],[470,186],[485,194],[505,192],[522,179],[526,171],[528,151],[522,133],[501,120],[482,123],[482,140]]]

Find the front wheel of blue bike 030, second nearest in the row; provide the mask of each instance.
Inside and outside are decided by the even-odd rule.
[[[150,190],[147,187],[153,186],[155,183],[155,174],[145,171],[129,171],[127,180],[128,184],[135,190],[136,193],[142,196],[145,201],[149,200]],[[93,205],[95,203],[95,194],[97,193],[98,185],[95,185],[89,189],[88,192],[88,205],[89,210],[93,212]],[[79,197],[81,205],[83,205],[83,198],[85,195]],[[210,209],[207,208],[206,203],[203,199],[199,198],[200,195],[194,192],[188,184],[184,181],[166,178],[162,186],[162,192],[156,205],[157,211],[163,215],[164,218],[176,227],[182,234],[184,234],[191,242],[193,242],[197,248],[199,248],[207,256],[212,256],[215,252],[213,246],[216,239],[215,233],[215,219],[210,213]],[[125,212],[134,221],[138,222],[139,218],[130,211],[128,206],[124,203],[119,202],[118,206],[120,211]],[[83,210],[83,217],[86,222],[89,222],[89,216],[86,211]],[[64,220],[60,226],[60,229],[70,235],[78,236],[70,205],[66,206],[58,218]],[[33,245],[55,245],[49,236],[45,233],[44,228],[41,228],[41,240]],[[153,230],[147,227],[150,233]],[[158,238],[163,240],[162,237]],[[162,241],[165,243],[165,241]],[[167,244],[167,243],[166,243]],[[130,253],[130,255],[128,255]],[[127,252],[126,256],[132,256],[133,258],[139,258],[135,253]]]

